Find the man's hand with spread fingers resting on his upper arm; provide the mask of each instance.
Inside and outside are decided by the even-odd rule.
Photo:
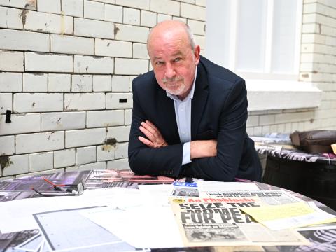
[[[146,146],[151,148],[160,148],[168,145],[158,128],[155,127],[155,125],[153,125],[153,123],[149,120],[142,122],[139,129],[146,137],[148,137],[148,139],[141,136],[138,137],[142,143],[146,144]]]

